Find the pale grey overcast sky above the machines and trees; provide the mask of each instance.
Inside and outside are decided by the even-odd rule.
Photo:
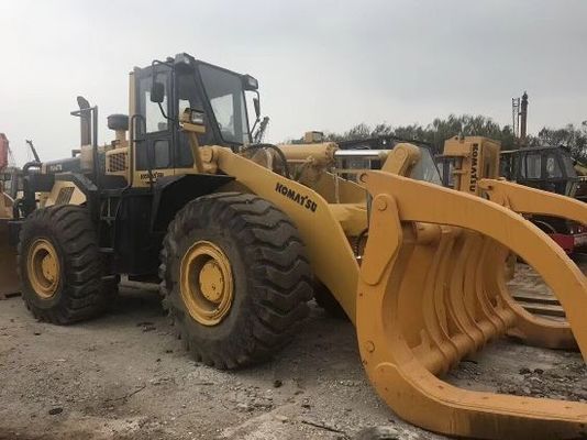
[[[587,1],[0,0],[0,132],[22,165],[79,145],[76,96],[128,113],[128,74],[187,52],[259,80],[266,141],[450,113],[587,120]]]

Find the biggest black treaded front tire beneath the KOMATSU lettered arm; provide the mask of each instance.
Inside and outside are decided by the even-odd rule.
[[[221,309],[224,299],[201,301],[201,277],[210,260],[185,268],[185,262],[196,261],[189,260],[190,255],[209,245],[206,243],[230,263],[230,268],[224,268],[226,279],[217,283],[222,286],[221,297],[232,298],[229,308]],[[188,272],[193,279],[199,274],[196,288],[181,287]],[[163,305],[178,336],[197,361],[217,369],[242,367],[270,358],[294,338],[312,298],[311,270],[298,230],[274,205],[247,194],[214,194],[187,204],[169,224],[159,276]],[[229,283],[232,289],[224,288]],[[195,312],[187,304],[192,297],[210,306],[218,322]]]

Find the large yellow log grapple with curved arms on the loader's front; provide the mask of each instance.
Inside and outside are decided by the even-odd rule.
[[[505,286],[509,252],[542,275],[565,309],[569,326],[554,338],[574,337],[586,358],[587,282],[564,251],[480,197],[385,172],[366,173],[364,183],[373,202],[356,328],[365,370],[386,403],[452,436],[587,436],[585,404],[465,391],[436,377],[520,323],[521,307]]]

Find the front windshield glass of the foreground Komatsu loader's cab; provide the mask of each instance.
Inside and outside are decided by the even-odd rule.
[[[241,77],[214,66],[199,66],[206,95],[225,142],[250,142],[246,105]]]

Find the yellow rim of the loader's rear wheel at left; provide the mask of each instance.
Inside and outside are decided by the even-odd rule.
[[[48,299],[55,295],[59,286],[60,263],[48,240],[33,242],[26,258],[26,272],[31,286],[41,298]]]

